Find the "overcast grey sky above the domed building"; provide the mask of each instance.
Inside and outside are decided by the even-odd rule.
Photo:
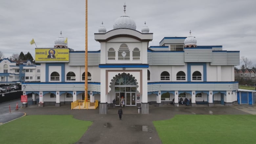
[[[149,46],[159,46],[163,37],[186,37],[189,30],[197,45],[222,45],[240,51],[256,64],[256,0],[88,0],[88,51],[97,51],[98,28],[113,30],[115,20],[130,16],[141,31],[144,21],[153,33]],[[62,31],[68,47],[85,50],[85,0],[1,0],[0,51],[5,57],[38,48],[53,48]]]

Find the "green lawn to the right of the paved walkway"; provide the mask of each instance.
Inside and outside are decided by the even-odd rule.
[[[153,124],[163,144],[256,142],[256,115],[175,115]]]

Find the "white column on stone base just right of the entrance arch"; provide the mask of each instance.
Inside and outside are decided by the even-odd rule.
[[[142,103],[148,102],[148,79],[147,79],[148,69],[142,69]],[[139,79],[137,79],[139,80]]]

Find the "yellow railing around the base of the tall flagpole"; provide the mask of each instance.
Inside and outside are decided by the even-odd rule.
[[[95,102],[90,102],[90,100],[88,99],[88,102],[86,102],[85,100],[76,100],[75,102],[71,103],[71,110],[73,110],[74,108],[80,110],[80,109],[87,109],[88,108],[92,108],[94,107],[94,109],[96,109],[98,107],[98,100],[96,100]]]

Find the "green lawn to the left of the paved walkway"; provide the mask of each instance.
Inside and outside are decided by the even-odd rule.
[[[0,126],[0,143],[73,144],[91,124],[73,115],[26,115]]]

